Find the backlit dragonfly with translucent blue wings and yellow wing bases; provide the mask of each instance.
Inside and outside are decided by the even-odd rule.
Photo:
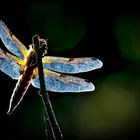
[[[29,49],[0,21],[0,38],[7,49],[0,48],[0,70],[18,80],[10,98],[8,114],[11,114],[22,101],[30,85],[40,88],[35,49],[33,44]],[[41,39],[40,39],[41,40]],[[42,39],[47,43],[45,39]],[[90,92],[95,90],[93,83],[87,79],[67,75],[99,69],[103,66],[101,60],[94,57],[66,58],[43,56],[43,74],[47,91],[60,93]]]

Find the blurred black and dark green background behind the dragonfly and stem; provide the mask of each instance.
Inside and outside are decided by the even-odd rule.
[[[0,7],[0,19],[27,47],[38,34],[48,39],[48,55],[94,56],[104,64],[75,75],[93,82],[94,92],[49,92],[64,139],[140,138],[140,9],[136,3],[28,0],[5,1]],[[0,77],[0,136],[45,140],[38,89],[30,86],[8,116],[17,81],[2,72]]]

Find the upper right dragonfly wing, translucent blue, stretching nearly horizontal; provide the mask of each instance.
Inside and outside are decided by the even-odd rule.
[[[46,56],[43,58],[43,66],[46,69],[62,73],[80,73],[101,68],[103,63],[93,57],[64,58]]]

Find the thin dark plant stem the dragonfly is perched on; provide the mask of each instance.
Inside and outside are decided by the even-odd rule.
[[[54,139],[63,140],[63,135],[57,123],[57,120],[56,120],[56,117],[55,117],[55,114],[54,114],[54,111],[53,111],[53,108],[49,99],[49,95],[45,86],[43,65],[42,65],[42,52],[40,51],[41,44],[39,41],[39,36],[38,35],[33,36],[32,41],[33,41],[33,45],[35,47],[35,52],[36,52],[36,61],[37,61],[36,63],[38,66],[39,81],[40,81],[40,96],[42,98],[42,102],[44,105],[46,121],[49,120],[49,124],[52,130]]]

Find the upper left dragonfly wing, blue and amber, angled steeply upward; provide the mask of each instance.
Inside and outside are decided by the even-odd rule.
[[[24,59],[27,56],[26,47],[10,32],[3,21],[0,21],[0,38],[5,47],[19,58]]]

